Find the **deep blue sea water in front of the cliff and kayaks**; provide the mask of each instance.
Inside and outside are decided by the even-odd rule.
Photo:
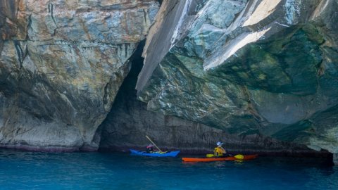
[[[182,163],[127,153],[0,151],[0,189],[338,189],[320,159]]]

